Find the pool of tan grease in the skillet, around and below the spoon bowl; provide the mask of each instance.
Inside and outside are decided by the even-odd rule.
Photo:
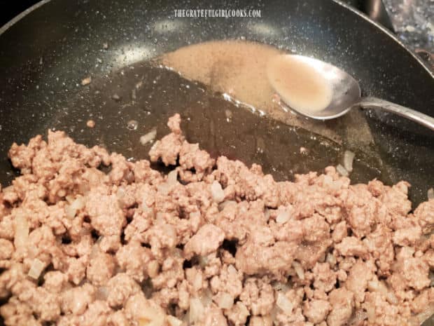
[[[267,114],[287,125],[301,127],[349,148],[368,149],[372,134],[365,116],[357,110],[331,121],[306,119],[291,114],[267,78],[273,57],[289,54],[274,46],[252,41],[225,40],[197,43],[165,53],[156,62],[190,81],[199,81],[211,92],[255,114]],[[374,153],[369,153],[374,155]]]

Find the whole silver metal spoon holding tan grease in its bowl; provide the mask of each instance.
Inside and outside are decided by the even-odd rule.
[[[433,117],[376,97],[361,97],[360,86],[352,76],[321,60],[303,55],[278,55],[267,64],[267,76],[281,100],[302,116],[328,120],[354,107],[383,109],[434,130]],[[318,93],[322,96],[318,102],[309,102],[309,97]],[[308,102],[303,104],[302,98]],[[314,107],[316,103],[319,106]],[[309,109],[309,105],[314,109]]]

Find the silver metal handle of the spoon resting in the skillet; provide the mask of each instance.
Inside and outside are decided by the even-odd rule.
[[[381,100],[377,97],[364,97],[359,105],[363,109],[384,109],[385,111],[398,114],[398,116],[403,116],[434,130],[434,118],[432,116],[427,116],[426,114],[414,111],[408,107],[402,107],[402,105]]]

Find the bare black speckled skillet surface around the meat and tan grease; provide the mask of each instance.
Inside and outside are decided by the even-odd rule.
[[[176,8],[253,8],[261,9],[262,17],[174,18]],[[12,142],[27,142],[56,128],[78,142],[146,158],[148,147],[141,147],[139,136],[155,125],[158,137],[164,135],[167,116],[175,111],[186,117],[191,141],[214,154],[261,163],[277,179],[337,163],[342,151],[312,142],[311,133],[237,110],[204,86],[144,63],[190,43],[239,38],[331,62],[356,76],[366,95],[434,115],[434,79],[428,70],[372,22],[333,1],[211,5],[52,0],[0,36],[1,184],[8,184],[16,173],[6,157]],[[87,76],[92,76],[90,87],[80,86]],[[132,88],[139,81],[145,86],[134,99]],[[120,100],[113,100],[115,94]],[[223,118],[225,109],[235,112],[232,124]],[[88,118],[97,121],[96,128],[85,127]],[[132,119],[139,123],[137,130],[126,128]],[[425,200],[434,185],[433,134],[391,116],[372,113],[367,121],[381,164],[365,164],[354,175],[356,181],[407,179],[413,185],[412,199]],[[304,145],[311,148],[309,156],[298,151]],[[360,156],[361,165],[363,160]]]

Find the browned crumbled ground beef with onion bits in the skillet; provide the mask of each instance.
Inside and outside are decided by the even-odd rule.
[[[407,182],[350,185],[332,167],[275,182],[189,144],[180,121],[150,152],[169,175],[61,132],[13,144],[6,325],[418,325],[433,311],[433,200],[410,213]]]

